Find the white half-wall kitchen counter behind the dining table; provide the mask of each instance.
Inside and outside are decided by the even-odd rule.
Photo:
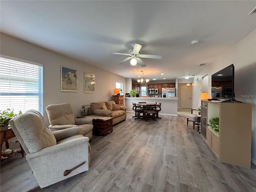
[[[159,115],[178,116],[178,98],[164,98],[164,97],[125,97],[125,106],[127,112],[132,112],[132,103],[147,102],[147,103],[161,103],[161,111]]]

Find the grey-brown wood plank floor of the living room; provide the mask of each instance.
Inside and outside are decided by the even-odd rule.
[[[256,167],[218,162],[186,117],[127,119],[113,132],[90,140],[87,172],[40,192],[253,192]],[[68,155],[68,154],[67,154]],[[70,156],[70,158],[75,158]],[[38,163],[40,166],[40,163]],[[1,192],[26,192],[38,186],[25,158],[1,162]]]

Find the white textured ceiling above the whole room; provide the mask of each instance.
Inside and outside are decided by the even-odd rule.
[[[256,28],[256,1],[3,1],[1,32],[125,78],[198,74]],[[192,46],[193,40],[199,44]],[[118,64],[132,43],[147,65]],[[206,63],[205,66],[199,66]],[[225,64],[227,65],[227,64]],[[72,63],[70,63],[72,67]],[[160,75],[164,73],[164,75]]]

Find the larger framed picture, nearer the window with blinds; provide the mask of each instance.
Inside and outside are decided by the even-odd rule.
[[[60,66],[60,91],[77,92],[77,70]]]

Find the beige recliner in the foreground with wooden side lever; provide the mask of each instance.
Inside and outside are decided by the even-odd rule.
[[[51,132],[36,110],[28,110],[9,123],[41,188],[89,169],[89,138],[79,134],[78,127]]]

